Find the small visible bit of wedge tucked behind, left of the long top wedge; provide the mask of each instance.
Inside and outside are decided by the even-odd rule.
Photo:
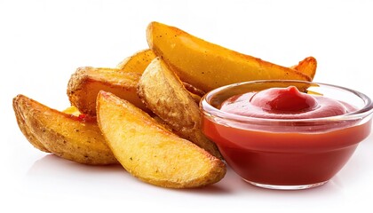
[[[132,56],[123,59],[116,67],[125,73],[138,73],[141,75],[153,59],[155,59],[154,51],[147,49],[138,51]]]

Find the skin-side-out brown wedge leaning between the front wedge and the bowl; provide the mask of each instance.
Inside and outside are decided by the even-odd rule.
[[[221,158],[217,146],[201,130],[201,112],[194,99],[160,58],[155,58],[139,80],[138,93],[149,109],[180,137]]]

